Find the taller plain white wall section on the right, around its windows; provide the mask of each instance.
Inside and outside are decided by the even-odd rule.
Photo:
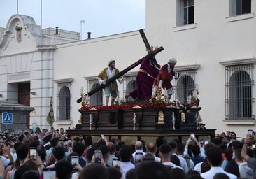
[[[235,131],[243,137],[248,128],[255,128],[255,122],[238,122],[236,125],[223,122],[225,66],[220,62],[255,59],[256,2],[252,1],[252,13],[236,17],[229,17],[229,2],[194,1],[194,24],[179,26],[176,22],[179,15],[178,1],[146,1],[145,31],[152,43],[164,46],[164,51],[157,59],[166,62],[176,57],[176,66],[200,65],[197,85],[202,106],[200,114],[206,127],[217,129],[218,133]],[[253,113],[255,115],[255,110]]]

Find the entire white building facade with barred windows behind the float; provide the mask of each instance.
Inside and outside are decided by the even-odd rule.
[[[164,47],[157,61],[178,60],[173,100],[186,103],[197,88],[207,129],[241,137],[256,130],[256,1],[163,0],[145,6],[148,41]],[[32,17],[13,15],[0,29],[0,100],[19,103],[27,90],[35,108],[30,127],[48,128],[52,96],[54,127],[67,129],[78,124],[81,89],[87,93],[98,85],[96,76],[110,59],[122,71],[145,55],[138,31],[80,41],[79,33],[42,30]],[[134,88],[137,71],[138,66],[124,75],[120,99]],[[90,96],[91,105],[104,101],[102,90]]]

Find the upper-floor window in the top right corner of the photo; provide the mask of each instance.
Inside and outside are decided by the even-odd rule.
[[[229,0],[229,16],[251,12],[251,0]]]

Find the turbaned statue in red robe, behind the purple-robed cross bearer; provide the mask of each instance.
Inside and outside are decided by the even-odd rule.
[[[166,102],[169,102],[171,99],[171,95],[174,93],[173,85],[171,85],[171,80],[173,77],[175,79],[179,78],[179,73],[174,71],[174,67],[177,63],[176,58],[169,59],[167,64],[161,67],[157,78],[155,78],[153,89],[152,89],[152,97],[156,96],[157,87],[163,87],[164,92],[166,93],[165,96],[167,98]]]

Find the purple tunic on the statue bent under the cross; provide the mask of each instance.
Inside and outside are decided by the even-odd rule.
[[[130,95],[136,100],[148,100],[151,99],[152,85],[159,73],[159,70],[150,65],[150,60],[148,58],[143,59],[140,69],[143,69],[148,73],[138,71],[136,77],[136,89],[130,92]]]

